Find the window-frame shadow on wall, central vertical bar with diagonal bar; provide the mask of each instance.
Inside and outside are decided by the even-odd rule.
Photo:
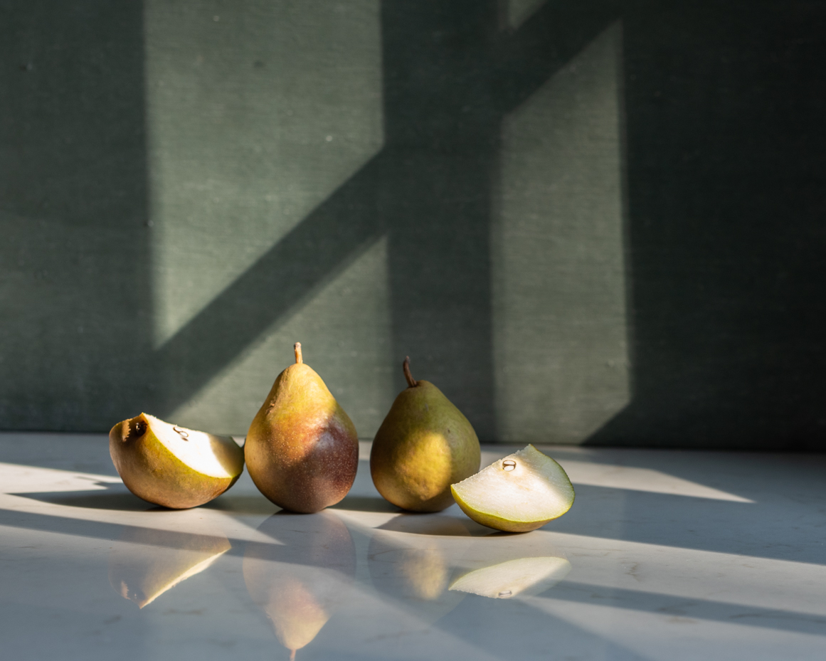
[[[553,3],[507,32],[498,2],[384,2],[384,149],[164,345],[159,362],[176,369],[158,410],[186,402],[387,234],[394,354],[410,354],[415,373],[495,440],[490,223],[501,118],[615,18],[613,4],[595,7]],[[401,371],[396,382],[404,387]]]

